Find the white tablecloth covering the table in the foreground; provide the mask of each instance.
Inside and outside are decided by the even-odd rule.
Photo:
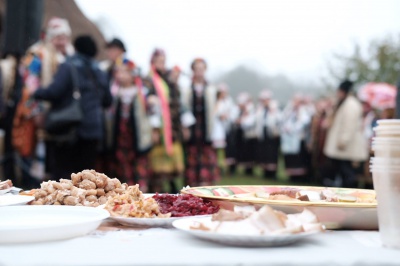
[[[0,265],[400,265],[376,231],[327,231],[285,247],[241,248],[175,229],[103,224],[79,238],[0,245]]]

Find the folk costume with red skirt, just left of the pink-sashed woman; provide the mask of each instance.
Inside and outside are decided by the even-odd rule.
[[[111,173],[129,185],[139,184],[147,192],[150,165],[151,126],[140,79],[135,86],[120,88],[113,111],[113,154]]]

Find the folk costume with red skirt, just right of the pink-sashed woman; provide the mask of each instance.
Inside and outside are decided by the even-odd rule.
[[[182,96],[184,105],[196,119],[185,146],[185,183],[189,186],[212,185],[220,177],[217,153],[212,146],[217,90],[206,83],[192,84]]]

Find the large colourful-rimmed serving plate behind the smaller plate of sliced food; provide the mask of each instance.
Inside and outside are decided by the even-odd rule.
[[[271,193],[282,188],[299,188],[308,191],[321,191],[325,187],[303,186],[210,186],[185,188],[181,192],[209,199],[219,204],[221,208],[233,210],[235,205],[254,205],[257,208],[265,204],[287,214],[302,212],[304,208],[312,211],[327,229],[358,229],[377,230],[378,216],[376,202],[311,202],[268,200],[256,197],[246,197],[253,192]],[[375,199],[375,191],[367,189],[328,188],[344,196]]]

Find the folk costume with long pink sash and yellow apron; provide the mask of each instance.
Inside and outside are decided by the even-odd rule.
[[[175,178],[184,170],[180,92],[168,76],[168,72],[161,73],[155,68],[150,70],[150,94],[156,96],[153,99],[156,103],[152,103],[151,125],[160,131],[161,139],[161,143],[155,145],[149,154],[153,171],[150,186],[153,190],[162,187],[165,176]]]

